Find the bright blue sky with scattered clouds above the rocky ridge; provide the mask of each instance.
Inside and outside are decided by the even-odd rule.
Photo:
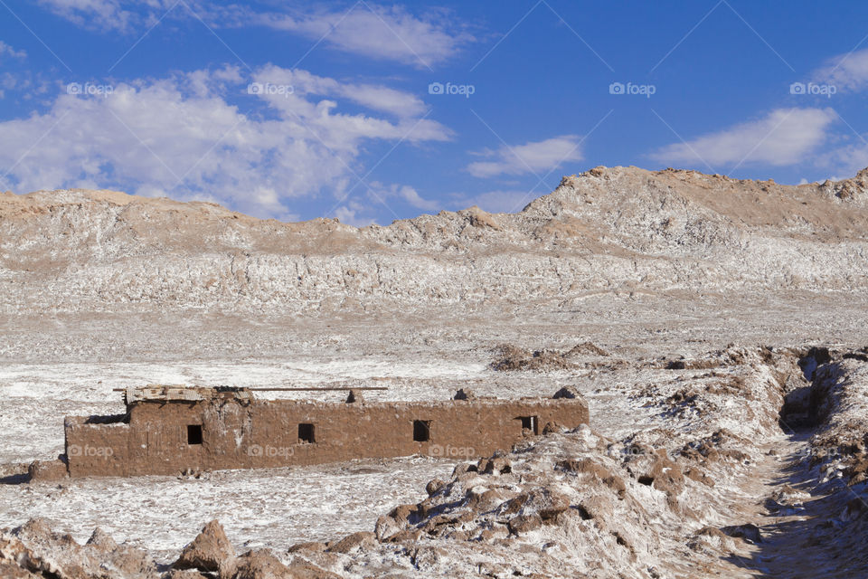
[[[517,211],[592,166],[868,166],[854,2],[0,0],[0,189]]]

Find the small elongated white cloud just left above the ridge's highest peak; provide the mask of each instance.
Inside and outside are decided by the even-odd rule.
[[[576,135],[563,135],[514,147],[500,147],[496,151],[484,151],[479,155],[491,157],[492,160],[476,161],[467,166],[470,175],[476,177],[548,172],[562,163],[580,161],[583,158],[579,137]]]

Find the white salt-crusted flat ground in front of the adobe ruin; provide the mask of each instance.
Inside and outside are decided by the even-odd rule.
[[[146,548],[170,563],[199,528],[217,518],[239,548],[268,546],[280,552],[298,542],[371,530],[383,512],[427,496],[429,479],[447,477],[454,466],[448,460],[413,457],[316,468],[223,470],[202,479],[2,485],[0,527],[45,517],[80,542],[101,527],[118,541]]]

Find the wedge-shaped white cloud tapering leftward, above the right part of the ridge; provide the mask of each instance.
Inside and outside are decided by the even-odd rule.
[[[712,166],[742,162],[792,165],[823,143],[826,129],[836,119],[832,109],[775,109],[762,119],[663,147],[650,157],[665,163]]]

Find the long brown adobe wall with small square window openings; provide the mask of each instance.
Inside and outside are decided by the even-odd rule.
[[[174,475],[309,465],[413,454],[472,458],[508,450],[531,432],[519,417],[575,428],[588,422],[580,399],[443,401],[435,403],[316,403],[210,400],[134,403],[129,422],[65,425],[73,477]],[[429,422],[429,441],[414,441],[414,421]],[[299,441],[298,425],[313,424],[315,442]],[[202,426],[191,444],[188,426]]]

